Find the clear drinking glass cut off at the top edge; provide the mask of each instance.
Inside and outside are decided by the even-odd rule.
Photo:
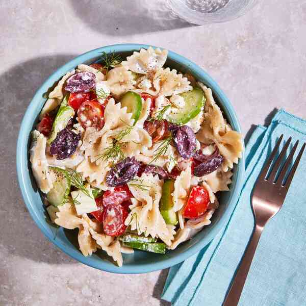
[[[194,24],[223,22],[238,18],[257,0],[167,0],[172,13]]]

